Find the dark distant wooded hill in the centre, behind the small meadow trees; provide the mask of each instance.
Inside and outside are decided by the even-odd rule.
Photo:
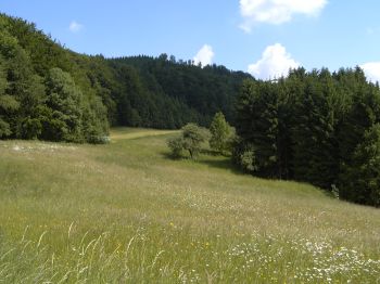
[[[232,121],[233,100],[240,85],[243,79],[252,78],[224,66],[201,68],[166,54],[121,57],[110,60],[110,63],[125,85],[125,91],[117,99],[122,125],[130,125],[126,118],[130,111],[125,112],[128,108],[139,113],[141,120],[138,126],[180,128],[189,121],[208,126],[218,111]],[[130,86],[135,90],[132,93],[128,93]],[[140,99],[144,99],[143,103]]]

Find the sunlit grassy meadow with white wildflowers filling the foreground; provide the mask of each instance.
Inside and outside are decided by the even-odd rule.
[[[380,282],[379,209],[173,160],[170,135],[0,142],[0,282]]]

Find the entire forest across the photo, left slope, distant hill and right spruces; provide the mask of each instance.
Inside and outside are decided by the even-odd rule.
[[[380,206],[380,89],[360,68],[262,81],[167,54],[105,59],[0,14],[0,139],[104,143],[110,126],[208,127],[217,112],[246,172]]]

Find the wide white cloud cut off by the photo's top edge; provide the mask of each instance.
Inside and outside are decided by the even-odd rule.
[[[317,16],[326,4],[327,0],[240,0],[240,27],[249,33],[256,23],[279,25],[294,14]]]

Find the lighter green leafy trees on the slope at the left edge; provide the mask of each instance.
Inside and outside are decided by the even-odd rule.
[[[107,109],[100,96],[105,88],[84,64],[88,56],[63,49],[20,18],[1,14],[0,26],[0,137],[104,140]]]

